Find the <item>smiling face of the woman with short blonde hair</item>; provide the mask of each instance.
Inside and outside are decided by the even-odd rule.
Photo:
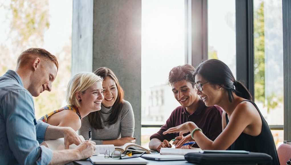
[[[102,91],[102,83],[99,81],[93,83],[84,94],[78,92],[82,99],[80,109],[86,109],[90,112],[101,110],[101,102],[104,98]]]

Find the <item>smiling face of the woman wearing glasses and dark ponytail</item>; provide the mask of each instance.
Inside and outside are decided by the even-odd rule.
[[[207,107],[212,105],[217,105],[220,102],[220,99],[222,98],[222,91],[223,88],[221,88],[219,85],[211,85],[210,83],[206,83],[207,80],[205,80],[202,76],[197,74],[195,76],[195,83],[196,84],[203,84],[202,91],[199,89],[197,90],[197,94],[202,98],[203,102]]]

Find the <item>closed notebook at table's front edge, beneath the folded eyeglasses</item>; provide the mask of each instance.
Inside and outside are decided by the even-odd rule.
[[[112,159],[104,158],[103,156],[91,156],[90,161],[92,164],[148,164],[148,161],[141,157],[130,159]]]

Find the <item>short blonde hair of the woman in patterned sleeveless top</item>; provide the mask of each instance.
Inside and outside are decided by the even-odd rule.
[[[80,102],[78,98],[76,97],[77,92],[81,92],[84,94],[86,90],[95,82],[103,82],[103,78],[100,76],[97,76],[96,74],[92,72],[81,72],[75,74],[67,87],[67,98],[66,102],[69,105],[75,105],[77,107],[80,107]]]

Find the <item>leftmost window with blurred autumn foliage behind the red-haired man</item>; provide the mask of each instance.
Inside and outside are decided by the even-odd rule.
[[[65,10],[63,10],[65,9]],[[1,1],[0,74],[15,70],[19,54],[31,47],[56,55],[58,74],[52,91],[34,97],[36,119],[60,108],[71,74],[72,1]]]

